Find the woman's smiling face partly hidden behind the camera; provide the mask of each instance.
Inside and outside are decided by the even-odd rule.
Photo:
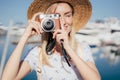
[[[59,3],[54,11],[55,14],[60,14],[60,28],[64,29],[68,33],[72,29],[73,14],[72,9],[67,3]],[[58,26],[59,27],[59,26]]]

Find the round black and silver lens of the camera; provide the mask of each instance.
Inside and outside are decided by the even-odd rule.
[[[49,32],[54,28],[54,21],[52,19],[45,19],[42,23],[45,31]]]

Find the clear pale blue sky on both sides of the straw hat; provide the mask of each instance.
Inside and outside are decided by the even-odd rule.
[[[27,23],[27,9],[33,0],[0,0],[0,22],[8,26],[10,20]],[[92,16],[90,21],[109,17],[120,19],[120,0],[90,0]]]

